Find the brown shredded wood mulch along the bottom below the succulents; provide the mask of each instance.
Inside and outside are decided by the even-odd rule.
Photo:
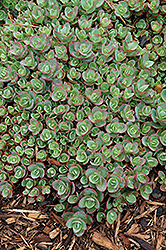
[[[26,197],[0,198],[0,250],[165,250],[166,193],[155,189],[149,201],[124,208],[116,223],[93,223],[80,238],[65,226],[49,196],[38,204]]]

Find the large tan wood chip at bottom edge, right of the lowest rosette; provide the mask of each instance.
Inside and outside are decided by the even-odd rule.
[[[111,242],[107,237],[104,237],[99,231],[96,231],[92,234],[92,240],[99,246],[105,247],[110,250],[118,250],[113,242]]]

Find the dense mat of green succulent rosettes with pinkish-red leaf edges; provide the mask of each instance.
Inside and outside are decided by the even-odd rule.
[[[19,1],[0,11],[0,194],[52,190],[68,228],[166,191],[166,5]]]

